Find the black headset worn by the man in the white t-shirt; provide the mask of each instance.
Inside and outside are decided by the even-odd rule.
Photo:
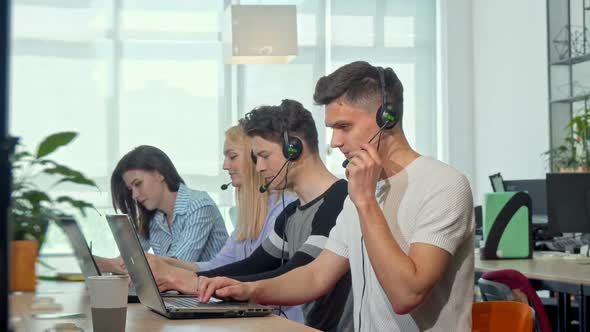
[[[397,78],[393,69],[389,67],[375,67],[375,69],[379,74],[379,85],[381,86],[381,96],[383,97],[383,101],[381,102],[381,107],[379,107],[375,114],[375,121],[377,122],[377,126],[379,126],[379,130],[373,135],[373,137],[371,137],[369,143],[371,143],[377,136],[381,137],[380,134],[383,130],[392,129],[399,123],[404,107],[402,95],[395,96],[396,98],[392,100],[393,96],[387,93],[390,89],[387,81],[390,81],[394,85],[399,82],[399,78]],[[346,168],[349,162],[350,158],[344,160],[344,162],[342,162],[342,167]]]

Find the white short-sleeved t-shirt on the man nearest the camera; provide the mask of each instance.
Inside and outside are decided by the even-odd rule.
[[[366,247],[361,250],[358,212],[347,198],[326,249],[349,259],[355,330],[360,331],[362,308],[362,331],[471,331],[474,222],[473,197],[465,176],[438,160],[419,157],[403,171],[379,181],[375,195],[405,253],[412,243],[427,243],[449,252],[451,260],[418,308],[396,314]]]

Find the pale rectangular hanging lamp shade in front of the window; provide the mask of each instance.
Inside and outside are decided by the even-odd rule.
[[[297,55],[294,5],[231,5],[225,11],[224,62],[288,63]]]

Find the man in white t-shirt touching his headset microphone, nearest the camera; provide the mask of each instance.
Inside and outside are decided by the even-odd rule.
[[[201,300],[302,303],[350,268],[356,331],[471,331],[474,225],[465,176],[410,147],[391,68],[345,65],[318,81],[314,99],[326,105],[349,181],[326,250],[270,280],[204,281]]]

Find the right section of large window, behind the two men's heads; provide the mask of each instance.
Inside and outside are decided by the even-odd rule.
[[[242,1],[276,4],[277,1]],[[314,113],[320,152],[344,177],[343,157],[329,148],[324,111],[313,105],[317,79],[352,61],[392,67],[404,84],[404,131],[420,153],[436,157],[436,1],[281,1],[297,5],[299,55],[290,65],[238,71],[240,111],[295,98]],[[419,95],[418,95],[419,93]],[[242,114],[242,113],[240,113]]]

